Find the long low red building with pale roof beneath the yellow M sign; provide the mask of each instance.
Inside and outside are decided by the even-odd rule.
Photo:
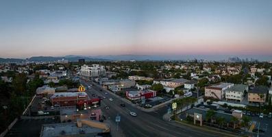
[[[52,105],[71,106],[79,101],[88,101],[86,92],[55,92],[51,96]]]

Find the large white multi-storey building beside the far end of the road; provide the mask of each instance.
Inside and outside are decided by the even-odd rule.
[[[81,69],[81,75],[88,77],[98,77],[101,75],[106,75],[106,69],[105,66],[101,66],[99,64],[92,64],[92,66],[84,64]]]

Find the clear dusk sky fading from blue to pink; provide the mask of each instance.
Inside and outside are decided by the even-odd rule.
[[[0,58],[271,55],[272,1],[0,1]]]

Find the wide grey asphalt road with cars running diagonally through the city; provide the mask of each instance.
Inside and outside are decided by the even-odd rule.
[[[82,82],[82,84],[84,84],[84,86],[90,86],[90,82]],[[129,103],[122,102],[113,95],[106,95],[105,92],[109,91],[104,90],[103,88],[101,88],[101,86],[97,86],[96,84],[92,85],[92,88],[86,91],[87,94],[89,96],[95,94],[98,96],[107,97],[107,99],[103,99],[101,101],[101,110],[107,118],[110,117],[109,120],[112,123],[115,123],[115,116],[117,114],[121,116],[121,122],[119,123],[119,127],[121,128],[125,136],[225,136],[224,134],[203,132],[199,129],[193,129],[191,127],[186,127],[185,125],[180,125],[178,123],[169,123],[163,121],[161,114],[164,111],[165,107],[161,110],[158,110],[158,112],[143,112],[130,105]],[[112,97],[114,101],[110,101],[110,97]],[[125,108],[121,107],[121,103],[125,103]],[[105,105],[108,105],[110,109],[104,109],[103,106]],[[129,112],[136,112],[138,116],[130,116]]]

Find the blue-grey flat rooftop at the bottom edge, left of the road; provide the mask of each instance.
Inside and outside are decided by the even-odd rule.
[[[41,137],[51,136],[95,136],[102,133],[103,129],[90,127],[82,124],[82,127],[77,127],[77,123],[55,123],[43,125]]]

